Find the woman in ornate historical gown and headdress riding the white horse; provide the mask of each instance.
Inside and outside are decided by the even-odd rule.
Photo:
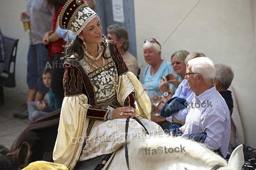
[[[84,0],[68,0],[59,26],[77,35],[64,52],[64,91],[53,160],[72,170],[77,161],[113,153],[125,144],[126,118],[139,120],[152,136],[163,133],[150,121],[151,103],[128,71],[114,41],[105,40],[97,14]],[[128,141],[148,137],[130,119]]]

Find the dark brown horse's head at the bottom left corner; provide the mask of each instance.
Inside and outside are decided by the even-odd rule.
[[[1,170],[20,170],[27,166],[29,157],[29,144],[22,142],[20,147],[14,152],[0,144],[0,169]]]

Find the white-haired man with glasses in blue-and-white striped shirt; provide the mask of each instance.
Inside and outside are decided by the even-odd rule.
[[[230,112],[225,100],[213,85],[215,68],[207,57],[198,57],[188,62],[186,77],[195,99],[189,105],[183,134],[206,133],[205,145],[227,156],[230,141]]]

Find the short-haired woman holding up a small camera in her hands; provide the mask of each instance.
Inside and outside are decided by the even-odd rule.
[[[159,84],[160,91],[166,99],[171,99],[172,95],[177,90],[180,82],[185,78],[186,65],[185,59],[189,55],[186,50],[176,51],[172,54],[171,61],[175,74],[169,73],[166,77],[163,77]],[[169,85],[171,84],[171,85]]]

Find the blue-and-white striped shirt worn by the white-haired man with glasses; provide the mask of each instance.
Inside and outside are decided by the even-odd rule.
[[[189,105],[184,134],[207,133],[205,145],[211,150],[220,151],[227,156],[230,141],[230,112],[215,86],[195,96]]]

